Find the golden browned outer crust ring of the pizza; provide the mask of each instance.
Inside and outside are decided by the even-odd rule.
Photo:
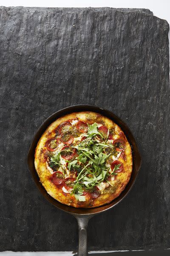
[[[109,188],[107,188],[102,192],[102,194],[98,198],[86,198],[86,201],[83,202],[77,201],[74,195],[65,194],[63,193],[62,189],[59,189],[57,186],[55,186],[54,183],[51,182],[51,172],[48,170],[46,165],[46,140],[50,137],[55,136],[55,129],[58,125],[70,119],[79,119],[88,123],[100,123],[102,125],[107,126],[110,130],[114,128],[114,139],[123,137],[126,144],[125,151],[119,157],[119,160],[123,163],[124,171],[119,172],[116,175],[116,178],[113,182],[114,189],[112,188],[111,191],[109,190]],[[40,177],[40,182],[42,183],[42,186],[44,186],[48,194],[55,198],[57,201],[61,202],[62,204],[67,204],[73,207],[98,207],[103,204],[108,204],[113,199],[118,197],[120,193],[125,189],[125,186],[130,180],[132,172],[132,152],[130,144],[128,143],[127,138],[125,137],[125,134],[120,129],[120,127],[116,125],[111,119],[108,119],[107,117],[102,116],[99,113],[88,111],[70,113],[57,119],[55,122],[49,125],[46,131],[42,134],[42,137],[40,138],[35,150],[35,168],[37,174]]]

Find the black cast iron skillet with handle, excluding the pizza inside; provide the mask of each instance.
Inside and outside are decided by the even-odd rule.
[[[90,208],[90,209],[70,207],[65,204],[61,204],[57,200],[52,198],[50,195],[48,195],[48,193],[46,192],[46,190],[40,183],[40,179],[39,179],[37,172],[35,170],[35,167],[34,167],[34,151],[35,151],[35,148],[37,146],[37,143],[38,143],[42,133],[46,130],[46,128],[52,122],[54,122],[60,116],[64,116],[65,114],[72,113],[72,112],[78,112],[78,111],[94,111],[94,112],[100,113],[100,114],[112,119],[116,124],[118,124],[121,127],[122,131],[124,131],[124,133],[127,137],[127,140],[129,141],[129,143],[131,145],[132,152],[133,152],[133,172],[130,177],[129,183],[125,187],[125,190],[119,195],[118,198],[114,199],[110,204],[105,204],[103,206]],[[42,195],[55,207],[65,211],[65,212],[68,212],[68,213],[74,215],[75,218],[77,218],[78,227],[79,227],[78,256],[88,256],[88,248],[87,248],[88,220],[100,212],[104,212],[108,209],[113,208],[114,206],[116,206],[116,204],[118,204],[120,201],[122,201],[123,198],[125,198],[125,196],[128,194],[128,192],[130,191],[130,189],[133,186],[133,183],[136,180],[136,177],[138,175],[138,172],[139,172],[139,169],[141,166],[141,162],[142,162],[142,159],[141,159],[139,150],[137,148],[135,139],[133,138],[133,135],[131,134],[127,125],[118,116],[116,116],[112,112],[102,109],[102,108],[98,108],[96,106],[91,106],[91,105],[71,106],[68,108],[64,108],[60,111],[57,111],[52,116],[48,117],[45,120],[45,122],[42,123],[42,125],[38,129],[37,133],[35,134],[34,139],[31,143],[31,146],[28,151],[28,166],[31,171],[31,175],[32,175],[38,189],[42,193]]]

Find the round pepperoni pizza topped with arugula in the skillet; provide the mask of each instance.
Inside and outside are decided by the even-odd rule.
[[[117,198],[132,173],[132,151],[121,128],[99,113],[58,118],[42,134],[35,168],[49,195],[73,207],[98,207]]]

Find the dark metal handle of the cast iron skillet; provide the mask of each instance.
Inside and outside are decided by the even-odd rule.
[[[87,246],[87,227],[88,221],[91,216],[88,217],[77,217],[78,227],[79,227],[79,246],[78,246],[78,256],[88,256],[88,246]]]

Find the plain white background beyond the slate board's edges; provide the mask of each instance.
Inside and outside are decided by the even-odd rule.
[[[150,9],[153,15],[167,20],[170,24],[170,0],[0,0],[0,6],[36,6],[36,7],[113,7]],[[170,41],[170,32],[169,32]],[[78,230],[77,230],[78,231]],[[163,249],[163,248],[162,248]],[[0,256],[37,256],[67,255],[68,253],[12,253],[3,252]]]

